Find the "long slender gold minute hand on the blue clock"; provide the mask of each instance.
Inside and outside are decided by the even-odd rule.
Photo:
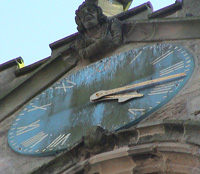
[[[149,81],[145,81],[145,82],[141,82],[141,83],[136,83],[136,84],[129,85],[129,86],[124,86],[124,87],[110,89],[110,90],[104,90],[104,91],[98,91],[90,96],[90,101],[95,101],[101,97],[104,97],[104,96],[107,96],[110,94],[115,94],[115,93],[123,92],[123,91],[129,90],[129,89],[134,89],[137,87],[151,85],[151,84],[154,84],[157,82],[162,82],[162,81],[166,81],[166,80],[170,80],[170,79],[174,79],[174,78],[178,78],[178,77],[184,77],[184,76],[186,76],[186,73],[179,73],[179,74],[174,74],[174,75],[167,76],[167,77],[162,77],[162,78],[153,79],[153,80],[149,80]]]

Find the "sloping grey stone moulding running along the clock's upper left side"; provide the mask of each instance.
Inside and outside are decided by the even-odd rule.
[[[0,99],[0,121],[18,110],[24,103],[54,83],[63,74],[70,71],[76,63],[76,57],[68,56],[63,58],[59,56],[55,59],[50,59],[39,67],[33,74],[16,86],[12,92]]]

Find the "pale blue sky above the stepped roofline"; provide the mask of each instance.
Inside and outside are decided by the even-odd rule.
[[[150,0],[154,11],[175,0]],[[49,44],[75,32],[83,0],[0,0],[0,64],[21,56],[30,65],[51,55]],[[130,8],[148,0],[133,0]]]

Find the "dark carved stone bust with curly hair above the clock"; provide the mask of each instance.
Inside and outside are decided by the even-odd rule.
[[[75,20],[80,33],[75,48],[84,59],[96,61],[95,55],[112,51],[122,43],[120,21],[108,19],[92,0],[86,0],[79,6]]]

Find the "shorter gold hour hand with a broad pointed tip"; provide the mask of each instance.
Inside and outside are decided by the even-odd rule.
[[[103,92],[103,91],[101,91]],[[96,93],[95,93],[96,94]],[[94,94],[93,94],[94,95]],[[118,100],[119,103],[125,102],[127,100],[133,99],[133,98],[138,98],[138,97],[143,97],[143,94],[137,93],[137,91],[129,92],[126,94],[114,94],[114,95],[106,95],[102,98],[99,99],[92,99],[93,97],[90,97],[91,102],[99,102],[102,100]]]

